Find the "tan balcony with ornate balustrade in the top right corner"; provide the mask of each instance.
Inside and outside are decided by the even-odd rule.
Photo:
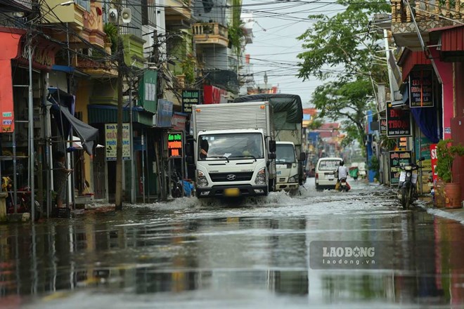
[[[391,2],[394,41],[413,51],[422,50],[413,18],[425,43],[430,41],[430,29],[464,22],[464,4],[460,0],[415,1],[410,2],[411,9],[402,0]]]

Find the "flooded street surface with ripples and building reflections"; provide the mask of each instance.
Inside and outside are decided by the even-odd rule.
[[[350,184],[0,225],[0,308],[464,308],[463,225]],[[376,263],[321,266],[318,241]]]

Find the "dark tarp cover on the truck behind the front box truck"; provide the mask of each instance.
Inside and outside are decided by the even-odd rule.
[[[276,130],[293,130],[295,124],[303,121],[302,99],[294,94],[262,93],[242,96],[235,103],[269,101],[273,108],[274,126]]]

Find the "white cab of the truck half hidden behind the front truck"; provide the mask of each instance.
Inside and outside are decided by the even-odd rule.
[[[304,158],[303,158],[304,159]],[[276,142],[276,191],[295,192],[299,188],[299,161],[295,144]]]

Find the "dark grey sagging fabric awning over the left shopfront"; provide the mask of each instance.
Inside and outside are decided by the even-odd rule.
[[[47,100],[53,103],[51,112],[57,120],[58,130],[67,138],[72,128],[73,133],[80,138],[84,150],[89,155],[92,155],[98,139],[98,129],[89,126],[89,124],[71,114],[70,110],[74,109],[74,96],[58,88],[49,88],[49,97]]]

